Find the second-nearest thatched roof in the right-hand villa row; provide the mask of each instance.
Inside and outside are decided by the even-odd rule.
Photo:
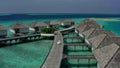
[[[94,49],[104,47],[113,43],[111,37],[115,36],[110,31],[101,31],[100,34],[89,39]]]

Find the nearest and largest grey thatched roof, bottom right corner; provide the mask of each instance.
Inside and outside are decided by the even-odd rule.
[[[119,50],[119,51],[118,51]],[[120,49],[115,43],[93,51],[100,68],[119,68]]]

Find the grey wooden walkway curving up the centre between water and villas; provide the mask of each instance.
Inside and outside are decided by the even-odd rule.
[[[63,36],[60,32],[56,32],[54,38],[52,49],[42,68],[60,68],[63,58]]]

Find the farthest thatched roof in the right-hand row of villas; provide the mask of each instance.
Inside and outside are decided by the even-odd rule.
[[[86,27],[83,28],[83,26],[85,26],[85,25],[86,25]],[[82,31],[86,31],[90,28],[102,29],[102,26],[99,25],[96,21],[94,21],[92,19],[85,19],[80,24],[78,24],[78,26],[76,26],[75,28],[78,30],[81,29]]]

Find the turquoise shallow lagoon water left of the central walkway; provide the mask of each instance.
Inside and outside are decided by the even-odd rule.
[[[0,68],[40,68],[52,42],[40,40],[0,48]]]

